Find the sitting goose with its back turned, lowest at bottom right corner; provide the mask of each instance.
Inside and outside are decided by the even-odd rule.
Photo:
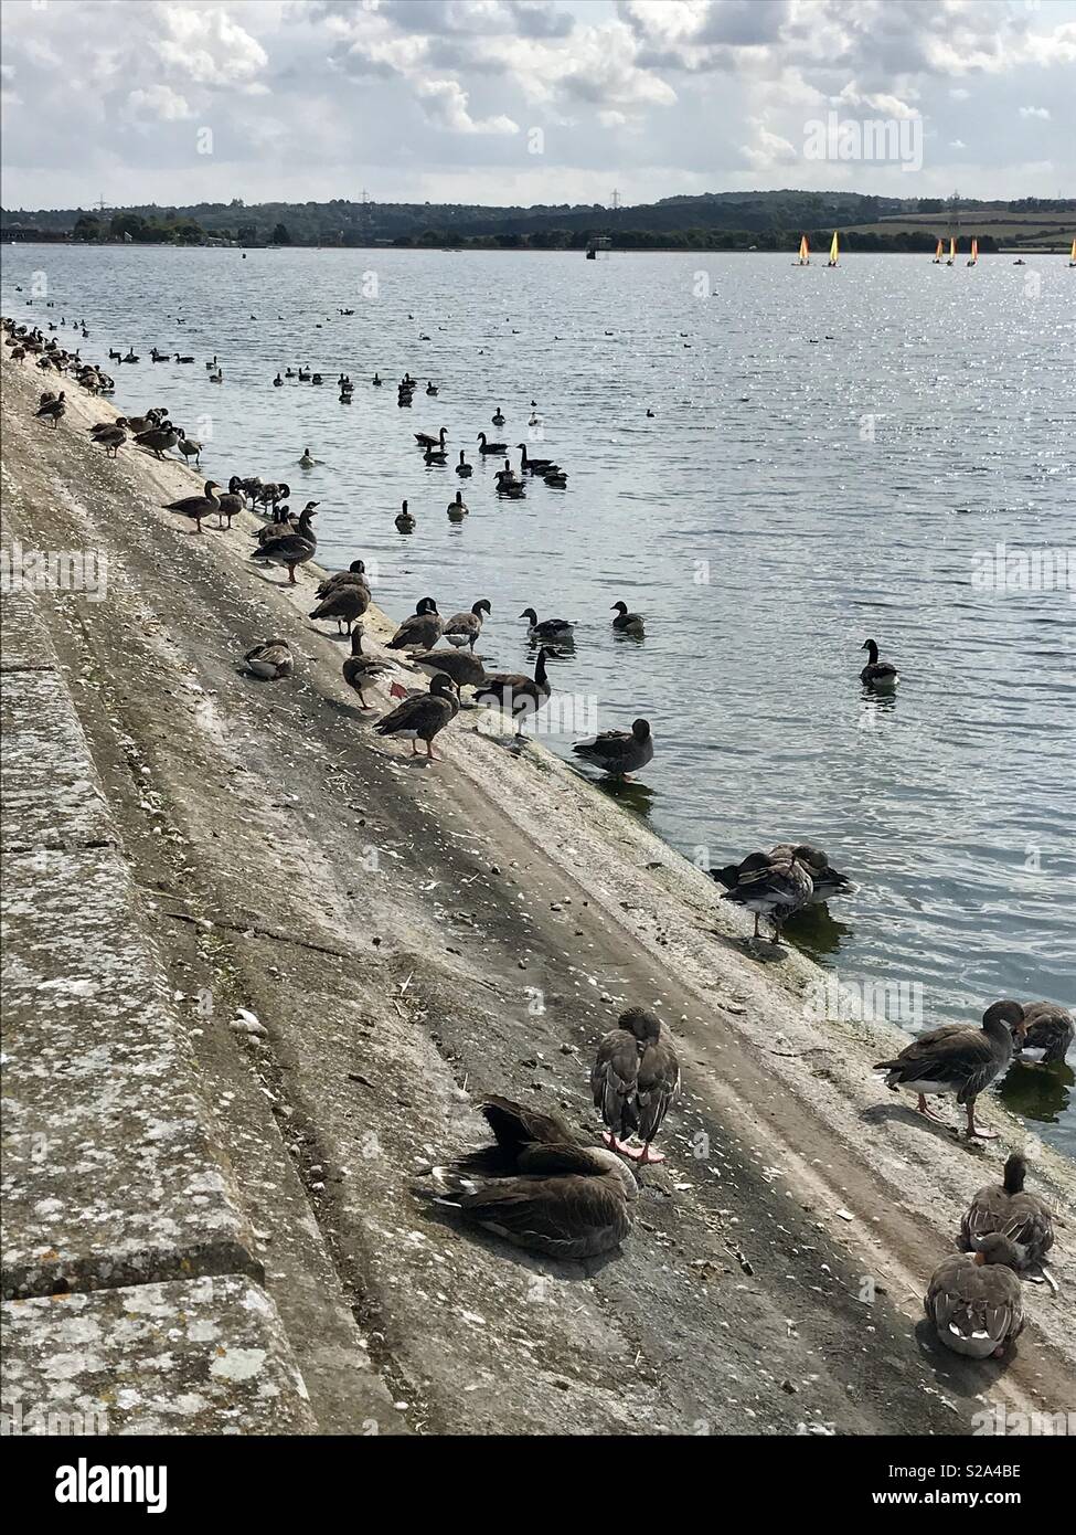
[[[1019,1256],[993,1231],[979,1251],[942,1259],[930,1276],[923,1308],[938,1340],[969,1358],[1001,1355],[1024,1328],[1024,1297],[1015,1274]]]

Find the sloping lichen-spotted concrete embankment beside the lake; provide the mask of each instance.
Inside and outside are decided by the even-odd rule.
[[[173,1289],[201,1285],[219,1346],[262,1351],[293,1401],[286,1428],[952,1434],[985,1400],[1067,1405],[1067,1233],[1062,1299],[1028,1296],[1015,1360],[969,1369],[916,1334],[999,1156],[880,1088],[895,1030],[809,1016],[815,969],[749,959],[711,881],[540,746],[476,714],[433,768],[376,738],[310,576],[253,569],[253,519],[177,525],[160,503],[196,476],[107,462],[80,428],[109,407],[78,390],[52,431],[37,385],[5,361],[5,537],[107,560],[103,600],[34,599],[46,632],[5,597],[26,668],[6,1094],[31,1137],[5,1285],[37,1297],[9,1305],[41,1398],[58,1357],[64,1400],[123,1397],[137,1340],[157,1357],[172,1326],[147,1417],[181,1429],[173,1400],[198,1397],[189,1426],[227,1429],[249,1383],[209,1389],[218,1343],[198,1354]],[[238,660],[276,634],[296,677],[258,685]],[[560,1269],[431,1214],[416,1174],[479,1139],[482,1093],[594,1128],[586,1068],[625,1001],[668,1019],[686,1096],[623,1253]],[[239,1007],[264,1036],[233,1032]],[[1071,1205],[1064,1157],[1035,1179]],[[92,1306],[80,1374],[57,1317],[87,1335]]]

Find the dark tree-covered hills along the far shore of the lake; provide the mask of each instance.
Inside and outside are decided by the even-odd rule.
[[[474,246],[494,249],[582,249],[597,235],[619,249],[784,249],[800,233],[815,238],[840,229],[849,249],[926,250],[939,229],[1064,249],[1076,227],[1076,200],[1021,198],[1015,203],[892,198],[860,192],[706,192],[608,209],[600,204],[485,207],[467,203],[195,203],[109,209],[0,210],[9,238],[41,235],[75,239],[201,244],[207,238],[239,244],[296,246]]]

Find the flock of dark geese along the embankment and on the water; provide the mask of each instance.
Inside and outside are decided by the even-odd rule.
[[[6,345],[12,358],[37,361],[43,370],[55,370],[95,394],[109,394],[114,381],[78,353],[64,352],[55,339],[46,339],[40,328],[3,319]],[[83,335],[84,335],[83,327]],[[130,359],[121,359],[130,361]],[[177,361],[190,361],[177,358]],[[216,358],[207,364],[210,378],[221,373]],[[287,376],[293,376],[289,370]],[[302,370],[299,371],[299,378]],[[282,382],[278,375],[278,381]],[[373,384],[382,381],[375,375]],[[350,379],[341,376],[341,391]],[[399,402],[410,404],[414,381],[405,375],[399,385]],[[436,394],[427,385],[427,394]],[[66,411],[64,391],[43,393],[35,414],[55,428]],[[494,425],[503,425],[497,408]],[[118,418],[89,428],[91,439],[115,457],[121,447],[135,447],[163,457],[175,448],[184,457],[200,456],[200,444],[173,425],[164,410],[149,410],[144,416]],[[433,436],[414,433],[427,462],[447,462],[447,430]],[[479,433],[482,454],[502,454],[505,444]],[[525,444],[520,473],[505,464],[497,474],[502,494],[517,494],[526,476],[540,476],[559,485],[566,476],[553,460],[533,459]],[[304,460],[310,459],[309,450]],[[301,464],[304,462],[301,460]],[[467,477],[471,465],[464,453],[456,473]],[[318,502],[309,500],[298,517],[289,510],[290,487],[284,482],[262,482],[258,477],[229,480],[224,491],[207,479],[200,494],[169,502],[166,511],[193,523],[216,519],[216,527],[230,528],[232,519],[246,508],[261,513],[252,560],[287,571],[296,585],[296,569],[313,560],[318,550],[315,516]],[[448,514],[462,517],[467,507],[457,493]],[[401,531],[410,531],[414,519],[404,502],[396,519]],[[358,695],[359,706],[370,711],[365,697],[375,683],[390,680],[390,698],[399,700],[384,714],[375,731],[382,737],[399,737],[425,743],[427,757],[437,760],[433,741],[465,706],[464,689],[470,689],[470,706],[491,706],[511,714],[517,721],[534,715],[550,698],[546,662],[560,646],[574,643],[574,626],[565,619],[539,619],[534,608],[525,608],[528,639],[537,649],[534,675],[487,671],[476,652],[485,620],[493,612],[488,599],[476,600],[468,611],[442,617],[433,597],[422,597],[407,617],[385,652],[407,657],[413,671],[430,678],[428,691],[408,692],[399,680],[393,659],[367,654],[362,617],[371,603],[371,591],[361,559],[344,571],[325,576],[316,586],[312,620],[335,622],[350,635],[350,654],[342,663],[344,682]],[[645,619],[628,603],[611,609],[617,632],[642,639]],[[444,642],[444,646],[442,646]],[[899,674],[893,663],[883,660],[873,639],[864,642],[867,663],[860,682],[872,692],[892,692]],[[244,655],[247,671],[262,680],[278,682],[295,671],[292,648],[284,639],[267,640]],[[628,777],[654,755],[649,721],[635,720],[631,731],[605,731],[574,751],[606,774]],[[724,887],[723,900],[754,913],[755,930],[749,944],[760,941],[758,926],[764,916],[774,926],[775,941],[787,918],[804,906],[824,903],[852,893],[852,881],[835,870],[827,855],[806,843],[778,843],[767,852],[752,852],[741,863],[711,869],[711,876]],[[978,1096],[996,1081],[1019,1055],[1038,1053],[1042,1061],[1061,1061],[1073,1044],[1071,1015],[1053,1002],[1021,1004],[1012,999],[993,1002],[982,1015],[979,1028],[959,1024],[933,1028],[919,1035],[892,1059],[880,1061],[876,1070],[886,1073],[892,1090],[916,1094],[916,1111],[939,1121],[929,1107],[929,1098],[952,1096],[967,1114],[969,1137],[995,1139],[995,1133],[976,1124]],[[554,1114],[491,1096],[482,1113],[493,1141],[445,1167],[430,1173],[430,1197],[454,1208],[473,1222],[522,1248],[557,1259],[586,1259],[617,1248],[631,1233],[632,1205],[639,1196],[639,1179],[631,1164],[639,1167],[662,1160],[654,1141],[668,1110],[680,1091],[677,1053],[662,1030],[655,1013],[631,1007],[597,1047],[591,1071],[594,1107],[605,1124],[605,1145],[594,1147]],[[1004,1167],[1002,1183],[981,1188],[961,1222],[961,1251],[946,1257],[935,1269],[924,1306],[939,1340],[958,1354],[984,1358],[1002,1354],[1024,1326],[1021,1276],[1035,1282],[1053,1279],[1044,1268],[1044,1257],[1053,1243],[1053,1217],[1045,1203],[1024,1187],[1027,1165],[1013,1153]]]

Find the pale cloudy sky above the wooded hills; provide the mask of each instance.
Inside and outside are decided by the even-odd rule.
[[[1076,0],[5,0],[2,71],[6,207],[1076,193]]]

